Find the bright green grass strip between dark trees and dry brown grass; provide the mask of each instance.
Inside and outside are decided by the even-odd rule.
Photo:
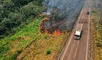
[[[31,41],[36,40],[40,35],[39,23],[41,19],[34,19],[28,25],[21,28],[13,36],[0,40],[0,60],[6,58],[15,58],[18,53],[16,51],[24,49]],[[14,52],[11,51],[14,49]],[[10,58],[11,60],[11,58]]]

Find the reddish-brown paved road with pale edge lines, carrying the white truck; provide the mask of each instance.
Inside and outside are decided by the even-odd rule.
[[[88,11],[91,11],[91,0],[86,0],[58,60],[90,60],[90,14],[87,14]],[[74,32],[80,25],[83,29],[82,37],[80,40],[75,40]]]

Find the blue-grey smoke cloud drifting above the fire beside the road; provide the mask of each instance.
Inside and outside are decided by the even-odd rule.
[[[59,28],[71,29],[78,14],[80,13],[85,0],[44,0],[43,4],[47,7],[47,12],[53,12],[53,8],[57,8],[60,17],[64,17]]]

